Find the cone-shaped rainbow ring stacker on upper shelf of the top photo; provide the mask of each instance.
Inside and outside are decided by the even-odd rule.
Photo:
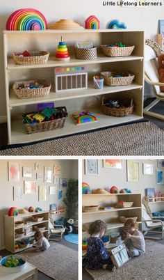
[[[58,48],[56,49],[55,60],[56,61],[69,61],[70,56],[68,53],[67,45],[61,37],[61,42],[58,43]]]

